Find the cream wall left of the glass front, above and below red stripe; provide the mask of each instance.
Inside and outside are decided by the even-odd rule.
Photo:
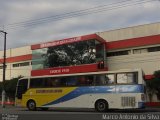
[[[24,46],[19,48],[8,49],[6,51],[6,58],[17,57],[22,55],[32,54],[32,50],[30,46]],[[3,59],[3,51],[0,51],[0,59]],[[13,64],[16,63],[23,63],[23,62],[30,62],[29,66],[20,66],[20,67],[13,67]],[[28,61],[18,61],[13,63],[6,63],[6,80],[10,80],[12,78],[22,76],[30,76],[31,75],[31,60]],[[3,63],[0,62],[0,66],[3,66]],[[0,81],[3,80],[3,69],[0,69]]]

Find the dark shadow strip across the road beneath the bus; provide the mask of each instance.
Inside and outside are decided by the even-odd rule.
[[[1,106],[0,106],[1,109]],[[14,106],[6,106],[5,109],[2,109],[2,111],[17,111],[17,112],[27,112],[29,113],[30,111],[27,108],[19,108],[19,107],[14,107]],[[73,108],[49,108],[48,110],[42,110],[40,108],[37,108],[36,111],[31,111],[34,113],[38,112],[43,112],[43,113],[69,113],[69,112],[74,112],[74,113],[100,113],[95,111],[94,109],[73,109]],[[159,112],[160,113],[160,108],[145,108],[145,109],[125,109],[125,110],[108,110],[107,112],[104,113],[153,113],[153,112]]]

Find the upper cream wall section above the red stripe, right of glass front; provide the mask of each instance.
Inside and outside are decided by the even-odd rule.
[[[117,30],[97,32],[96,34],[101,36],[107,42],[158,35],[160,34],[160,22],[122,28]]]

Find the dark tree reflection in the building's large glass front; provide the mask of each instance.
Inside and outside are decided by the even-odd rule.
[[[95,63],[95,52],[91,49],[95,49],[95,40],[50,47],[42,57],[46,67]]]

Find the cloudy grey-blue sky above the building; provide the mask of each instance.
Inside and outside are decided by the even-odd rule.
[[[0,30],[10,49],[160,22],[159,11],[160,0],[0,0]]]

